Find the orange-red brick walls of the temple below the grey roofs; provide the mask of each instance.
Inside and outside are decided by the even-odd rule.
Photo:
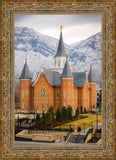
[[[28,86],[26,85],[27,81]],[[73,111],[77,107],[80,109],[81,106],[83,110],[84,108],[93,108],[93,104],[96,107],[96,84],[88,84],[87,77],[83,88],[74,87],[73,79],[61,79],[61,87],[53,87],[48,83],[45,75],[41,73],[35,85],[33,87],[30,85],[31,80],[20,80],[20,105],[22,111],[46,112],[48,110],[47,103],[49,107],[54,107],[54,111],[57,110],[58,103],[60,108],[64,105],[66,107],[71,105]],[[42,88],[45,91],[45,97],[40,95]],[[26,91],[28,91],[28,97],[26,97]],[[57,91],[59,91],[59,97],[57,96]],[[24,92],[24,97],[22,97],[22,92]],[[24,103],[24,108],[22,108],[22,102]],[[28,102],[28,108],[26,108],[26,102]],[[44,108],[42,108],[42,102]]]

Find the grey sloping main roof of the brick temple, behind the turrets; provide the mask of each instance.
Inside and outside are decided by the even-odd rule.
[[[44,69],[43,74],[45,75],[48,83],[51,86],[61,86],[61,74],[56,71],[51,71]],[[83,87],[85,84],[85,72],[73,72],[72,73],[74,81],[74,87]],[[32,82],[31,86],[34,86],[40,76],[40,73],[37,74],[36,79]]]

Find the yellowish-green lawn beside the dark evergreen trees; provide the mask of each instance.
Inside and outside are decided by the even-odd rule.
[[[83,118],[83,119],[79,119],[79,120],[76,120],[76,121],[65,123],[65,124],[61,125],[60,128],[66,128],[66,126],[70,126],[70,125],[71,125],[72,128],[74,128],[75,123],[77,123],[77,126],[86,123],[85,124],[85,129],[86,129],[89,126],[91,126],[91,122],[93,122],[94,125],[97,123],[95,114],[81,114],[81,115],[83,115],[83,116],[85,115],[85,116],[88,116],[88,117]],[[98,115],[98,123],[100,123],[100,122],[101,122],[101,115]],[[59,126],[57,126],[55,128],[59,128]],[[81,126],[81,130],[84,130],[84,125]]]

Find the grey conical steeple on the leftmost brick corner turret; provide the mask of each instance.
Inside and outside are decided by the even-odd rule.
[[[23,70],[19,79],[32,79],[29,72],[28,65],[27,65],[27,58],[25,58],[25,65],[23,67]]]

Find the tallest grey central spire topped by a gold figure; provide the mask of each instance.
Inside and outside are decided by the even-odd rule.
[[[62,36],[62,28],[63,26],[60,26],[60,39],[58,44],[58,49],[55,57],[66,57],[65,49],[64,49],[64,42],[63,42],[63,36]]]

